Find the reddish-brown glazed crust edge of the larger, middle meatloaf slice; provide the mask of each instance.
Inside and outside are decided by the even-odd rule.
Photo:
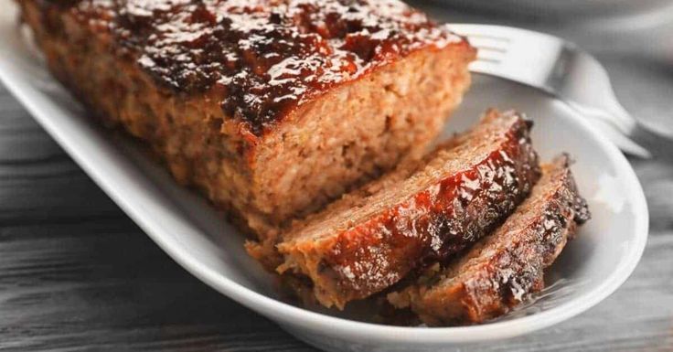
[[[451,259],[523,201],[539,178],[537,159],[529,122],[519,119],[507,142],[482,162],[342,233],[321,262],[322,274],[334,278],[338,292],[363,298]]]

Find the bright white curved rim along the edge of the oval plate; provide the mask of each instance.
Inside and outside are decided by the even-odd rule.
[[[0,58],[4,58],[4,56],[0,56]],[[77,149],[76,143],[73,143],[72,140],[63,135],[65,133],[59,130],[59,126],[56,123],[50,123],[48,112],[41,109],[38,106],[39,104],[31,98],[31,94],[28,94],[30,91],[34,94],[43,93],[35,90],[33,86],[25,82],[13,79],[12,76],[12,73],[5,67],[5,59],[0,59],[0,81],[5,84],[7,90],[21,102],[27,109],[27,112],[91,176],[95,183],[131,219],[134,219],[134,222],[174,261],[203,283],[208,284],[208,286],[219,293],[225,294],[239,304],[245,305],[279,324],[292,326],[293,328],[302,328],[306,330],[305,332],[314,332],[326,336],[339,336],[342,339],[361,339],[381,343],[422,341],[423,345],[477,342],[519,336],[558,324],[572,316],[581,314],[603,301],[610,294],[614,293],[634,272],[646,247],[649,229],[648,208],[645,194],[633,167],[614,144],[610,143],[602,134],[594,131],[580,112],[576,112],[565,101],[556,99],[555,101],[559,101],[564,105],[564,109],[569,112],[568,115],[572,116],[572,123],[577,124],[584,132],[591,135],[595,142],[604,150],[605,154],[610,157],[611,165],[615,166],[616,175],[624,177],[625,185],[628,187],[625,189],[626,199],[629,199],[634,207],[634,245],[628,249],[625,260],[621,261],[614,268],[613,272],[604,279],[603,283],[593,288],[593,290],[582,293],[577,298],[549,310],[485,325],[450,327],[392,326],[358,322],[316,313],[292,304],[286,304],[262,293],[257,293],[240,283],[219,275],[218,272],[209,269],[207,265],[201,263],[195,257],[181,251],[176,241],[172,241],[160,233],[161,230],[159,229],[161,227],[158,224],[143,216],[143,209],[134,207],[133,202],[122,197],[115,187],[112,187],[112,184],[106,181],[104,175],[96,172],[95,165],[93,165],[95,163],[82,156],[83,153]],[[22,83],[25,83],[23,87]]]

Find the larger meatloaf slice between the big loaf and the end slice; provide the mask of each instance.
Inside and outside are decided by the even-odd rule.
[[[317,300],[342,308],[442,261],[488,233],[539,177],[530,123],[486,113],[470,132],[294,224],[279,272],[305,275]]]

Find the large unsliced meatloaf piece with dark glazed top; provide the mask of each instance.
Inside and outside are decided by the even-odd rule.
[[[16,1],[92,112],[262,239],[422,155],[475,58],[397,0]]]

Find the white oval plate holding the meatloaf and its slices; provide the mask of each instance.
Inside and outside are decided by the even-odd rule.
[[[201,197],[176,186],[133,141],[112,137],[86,116],[21,38],[14,8],[0,0],[0,79],[54,139],[155,242],[204,283],[330,351],[440,351],[518,336],[578,315],[624,283],[645,247],[645,197],[625,157],[582,116],[540,91],[475,77],[446,134],[475,123],[486,107],[515,108],[535,121],[543,159],[566,151],[593,212],[549,272],[535,304],[485,325],[400,327],[311,312],[277,299],[271,277],[243,250],[243,237]]]

